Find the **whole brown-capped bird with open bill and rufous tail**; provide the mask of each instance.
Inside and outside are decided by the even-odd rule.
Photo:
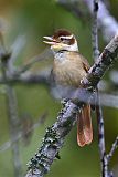
[[[82,88],[82,79],[90,67],[88,61],[79,53],[75,35],[65,29],[58,29],[52,37],[43,37],[54,55],[52,74],[57,85],[76,91]],[[67,95],[67,94],[66,94]],[[66,98],[66,96],[65,96]],[[71,97],[69,97],[71,98]],[[77,144],[83,147],[93,140],[90,105],[86,104],[77,114]]]

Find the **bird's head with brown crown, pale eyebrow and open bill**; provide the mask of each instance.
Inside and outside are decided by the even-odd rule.
[[[60,51],[78,51],[77,41],[67,30],[57,30],[52,37],[43,37],[47,41],[43,41],[51,45],[54,53]]]

